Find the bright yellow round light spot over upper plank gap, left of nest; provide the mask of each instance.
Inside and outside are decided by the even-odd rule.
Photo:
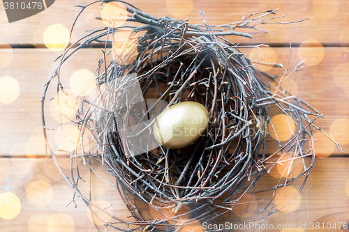
[[[43,33],[45,46],[52,51],[62,51],[69,42],[69,31],[61,24],[47,27]]]

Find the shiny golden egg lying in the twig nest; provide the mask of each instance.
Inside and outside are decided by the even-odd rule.
[[[180,102],[164,109],[154,123],[154,138],[165,148],[193,144],[206,130],[209,112],[198,102]]]

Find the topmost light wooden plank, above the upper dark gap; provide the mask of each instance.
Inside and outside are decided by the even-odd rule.
[[[70,29],[73,20],[80,8],[74,7],[75,4],[83,5],[89,3],[89,0],[56,1],[50,8],[34,15],[25,20],[8,24],[3,5],[0,6],[0,31],[2,33],[1,40],[11,45],[18,44],[43,44],[43,32],[52,24],[62,24]],[[156,17],[175,17],[184,20],[190,18],[193,24],[202,23],[202,17],[199,10],[205,11],[207,22],[211,25],[227,24],[230,22],[238,22],[242,17],[247,17],[251,13],[257,13],[262,10],[279,8],[276,16],[285,15],[285,18],[278,19],[279,22],[292,22],[309,18],[306,22],[299,24],[264,24],[260,25],[260,29],[265,29],[274,34],[262,33],[254,35],[253,40],[244,38],[231,37],[232,42],[249,42],[249,43],[300,43],[307,39],[316,39],[320,42],[328,44],[339,44],[348,41],[348,1],[346,0],[325,0],[325,1],[253,1],[246,0],[239,3],[234,1],[161,1],[152,0],[128,1],[134,6],[144,10],[146,13]],[[314,2],[314,3],[313,3]],[[192,4],[191,4],[192,3]],[[320,5],[318,4],[320,3]],[[80,38],[84,35],[84,31],[94,29],[89,24],[96,25],[94,17],[100,14],[98,4],[94,5],[94,9],[90,10],[86,15],[82,15],[81,20],[76,24],[76,31],[73,38]],[[89,24],[87,24],[87,21]],[[276,20],[274,20],[275,22]],[[104,24],[99,24],[98,27]],[[96,28],[96,27],[95,27]],[[348,44],[346,44],[348,45]]]

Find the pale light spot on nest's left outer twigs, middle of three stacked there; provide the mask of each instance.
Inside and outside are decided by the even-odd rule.
[[[59,123],[75,121],[75,114],[80,107],[80,98],[70,88],[64,88],[64,92],[54,98],[50,103],[50,113],[52,118]]]

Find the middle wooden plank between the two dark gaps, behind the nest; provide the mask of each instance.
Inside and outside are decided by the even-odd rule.
[[[279,47],[273,48],[273,51],[276,61],[283,63],[286,68],[290,49]],[[316,54],[317,51],[318,48],[312,48],[309,50],[309,54]],[[315,109],[324,114],[325,119],[319,119],[317,125],[321,126],[325,132],[331,132],[334,138],[343,145],[346,153],[348,153],[349,146],[346,139],[348,138],[348,130],[346,130],[348,123],[346,123],[346,120],[348,120],[349,93],[348,88],[346,88],[346,80],[348,79],[346,52],[341,47],[325,47],[324,51],[323,59],[318,65],[309,66],[306,63],[304,70],[295,72],[289,78],[297,86],[297,96],[309,102]],[[1,52],[9,52],[9,50],[3,49]],[[48,49],[13,49],[12,52],[13,61],[6,68],[1,69],[1,77],[10,75],[17,79],[20,85],[20,96],[11,104],[0,105],[1,111],[6,112],[6,114],[1,114],[0,116],[1,122],[3,122],[0,130],[0,138],[3,141],[0,147],[0,155],[43,155],[45,154],[45,146],[43,145],[41,129],[40,98],[43,94],[43,85],[57,66],[57,63],[53,63],[57,54]],[[250,50],[243,49],[243,52],[246,52],[247,55]],[[62,84],[69,88],[69,79],[75,70],[86,68],[93,71],[97,66],[98,59],[101,57],[101,49],[80,50],[61,69]],[[311,56],[309,57],[311,59]],[[303,58],[299,58],[298,49],[293,48],[290,70],[293,70],[301,59]],[[337,65],[341,63],[347,68],[338,69]],[[261,65],[260,68],[262,68]],[[274,68],[270,72],[282,75],[285,72],[285,68]],[[23,70],[26,70],[25,73]],[[55,81],[54,83],[57,82]],[[47,126],[55,129],[54,132],[49,132],[52,149],[55,150],[57,150],[55,133],[60,130],[59,114],[51,113],[50,104],[52,101],[48,98],[55,97],[56,91],[57,87],[52,86],[49,93],[47,93],[45,110]],[[58,121],[54,120],[54,118]],[[339,118],[344,118],[344,123],[336,121],[336,125],[331,127],[332,123]],[[340,126],[338,127],[338,125]],[[339,148],[335,148],[329,139],[319,142],[319,144],[323,143],[325,143],[325,146],[333,148],[333,155],[341,154]],[[275,150],[274,146],[273,149]]]

